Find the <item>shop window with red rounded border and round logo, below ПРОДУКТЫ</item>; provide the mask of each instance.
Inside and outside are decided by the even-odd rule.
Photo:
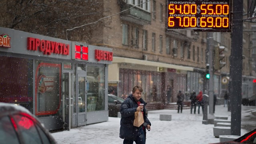
[[[54,115],[60,109],[61,64],[36,62],[36,115]]]

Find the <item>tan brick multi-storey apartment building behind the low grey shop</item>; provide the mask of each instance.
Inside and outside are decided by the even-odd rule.
[[[80,2],[79,5],[77,2]],[[200,90],[207,93],[205,69],[210,50],[207,48],[207,32],[167,30],[167,0],[94,0],[93,4],[90,3],[92,1],[77,2],[72,3],[71,7],[68,7],[69,2],[60,2],[58,8],[65,8],[65,12],[60,11],[61,14],[55,15],[58,18],[52,18],[52,22],[39,28],[26,28],[30,24],[26,21],[10,26],[14,16],[8,13],[10,19],[0,15],[0,24],[3,27],[14,26],[14,29],[26,32],[111,48],[113,61],[108,66],[109,87],[104,90],[114,88],[119,97],[125,98],[135,85],[142,86],[142,97],[147,102],[166,102],[168,86],[172,89],[171,102],[176,102],[179,90],[186,94],[192,91],[198,93]],[[6,11],[7,3],[2,3]],[[44,5],[48,4],[45,3]],[[48,4],[49,7],[53,5]],[[244,13],[246,6],[244,0]],[[88,14],[80,13],[82,10],[73,14],[72,12],[77,12],[72,9],[75,7],[90,9],[86,9]],[[41,19],[48,20],[46,16],[51,14],[52,11],[50,14],[41,14],[39,16],[43,18],[40,19],[36,19],[36,15],[33,19],[35,25],[43,23]],[[250,28],[250,24],[244,24],[245,28]],[[231,36],[230,32],[213,32],[214,46],[224,46],[223,53],[226,56],[226,65],[214,71],[214,76],[211,76],[214,78],[214,93],[219,98],[223,98],[222,93],[229,90]],[[251,84],[255,73],[251,72],[253,62],[250,59],[253,55],[248,42],[250,34],[244,32],[243,39],[245,59],[242,90],[243,95],[249,97],[255,94],[255,85],[253,87]]]

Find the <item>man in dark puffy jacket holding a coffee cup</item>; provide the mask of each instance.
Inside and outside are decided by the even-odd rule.
[[[146,129],[150,131],[151,123],[146,116],[146,102],[141,98],[142,87],[134,86],[132,94],[130,94],[121,104],[120,113],[120,133],[119,137],[124,139],[123,144],[145,144]],[[143,105],[140,105],[143,104]],[[144,123],[136,127],[133,125],[135,112],[141,111]]]

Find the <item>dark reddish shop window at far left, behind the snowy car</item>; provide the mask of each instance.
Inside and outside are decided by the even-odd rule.
[[[33,61],[0,56],[0,102],[24,106],[33,112]]]

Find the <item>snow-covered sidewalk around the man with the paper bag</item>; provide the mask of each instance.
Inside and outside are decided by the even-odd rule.
[[[255,108],[255,107],[254,107]],[[242,116],[248,116],[248,107],[242,106]],[[247,114],[248,113],[248,114]],[[160,114],[171,114],[171,121],[159,120]],[[223,105],[216,106],[216,116],[228,116]],[[148,118],[152,123],[151,131],[147,131],[146,144],[209,144],[219,142],[213,135],[213,124],[202,124],[202,110],[200,114],[190,114],[189,110],[177,113],[177,110],[148,111]],[[52,133],[58,144],[122,144],[119,138],[120,118],[109,117],[107,122],[91,124],[70,131]],[[241,129],[241,135],[246,130]],[[134,142],[135,144],[135,142]]]

